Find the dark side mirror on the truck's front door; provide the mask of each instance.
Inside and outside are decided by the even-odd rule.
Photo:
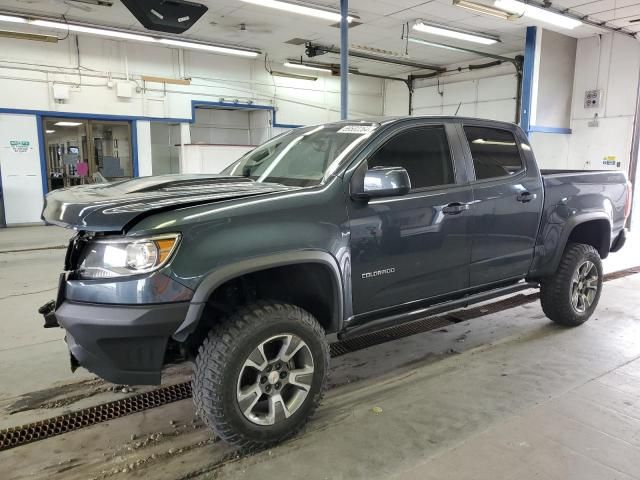
[[[395,197],[411,190],[409,173],[402,167],[374,167],[354,175],[351,196],[358,199]]]

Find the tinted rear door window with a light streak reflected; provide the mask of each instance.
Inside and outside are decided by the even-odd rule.
[[[464,127],[469,141],[476,179],[513,175],[523,170],[513,133],[486,127]]]

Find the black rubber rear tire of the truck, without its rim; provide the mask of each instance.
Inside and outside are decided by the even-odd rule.
[[[572,283],[576,270],[586,261],[592,262],[598,272],[597,290],[591,305],[578,312],[572,305]],[[564,250],[558,269],[540,284],[540,302],[545,315],[555,323],[576,327],[593,314],[602,293],[602,261],[591,245],[570,243]]]

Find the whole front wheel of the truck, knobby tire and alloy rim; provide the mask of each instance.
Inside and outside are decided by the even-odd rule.
[[[324,330],[311,314],[278,302],[243,307],[200,347],[196,411],[228,443],[267,448],[294,435],[315,411],[328,364]]]

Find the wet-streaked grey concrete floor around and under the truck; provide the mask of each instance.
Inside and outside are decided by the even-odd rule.
[[[606,269],[640,264],[635,244]],[[40,328],[63,253],[0,253],[0,428],[125,396],[72,375],[61,331]],[[335,358],[306,430],[257,455],[212,439],[185,400],[2,452],[0,478],[640,479],[638,305],[635,275],[576,329],[533,303]]]

